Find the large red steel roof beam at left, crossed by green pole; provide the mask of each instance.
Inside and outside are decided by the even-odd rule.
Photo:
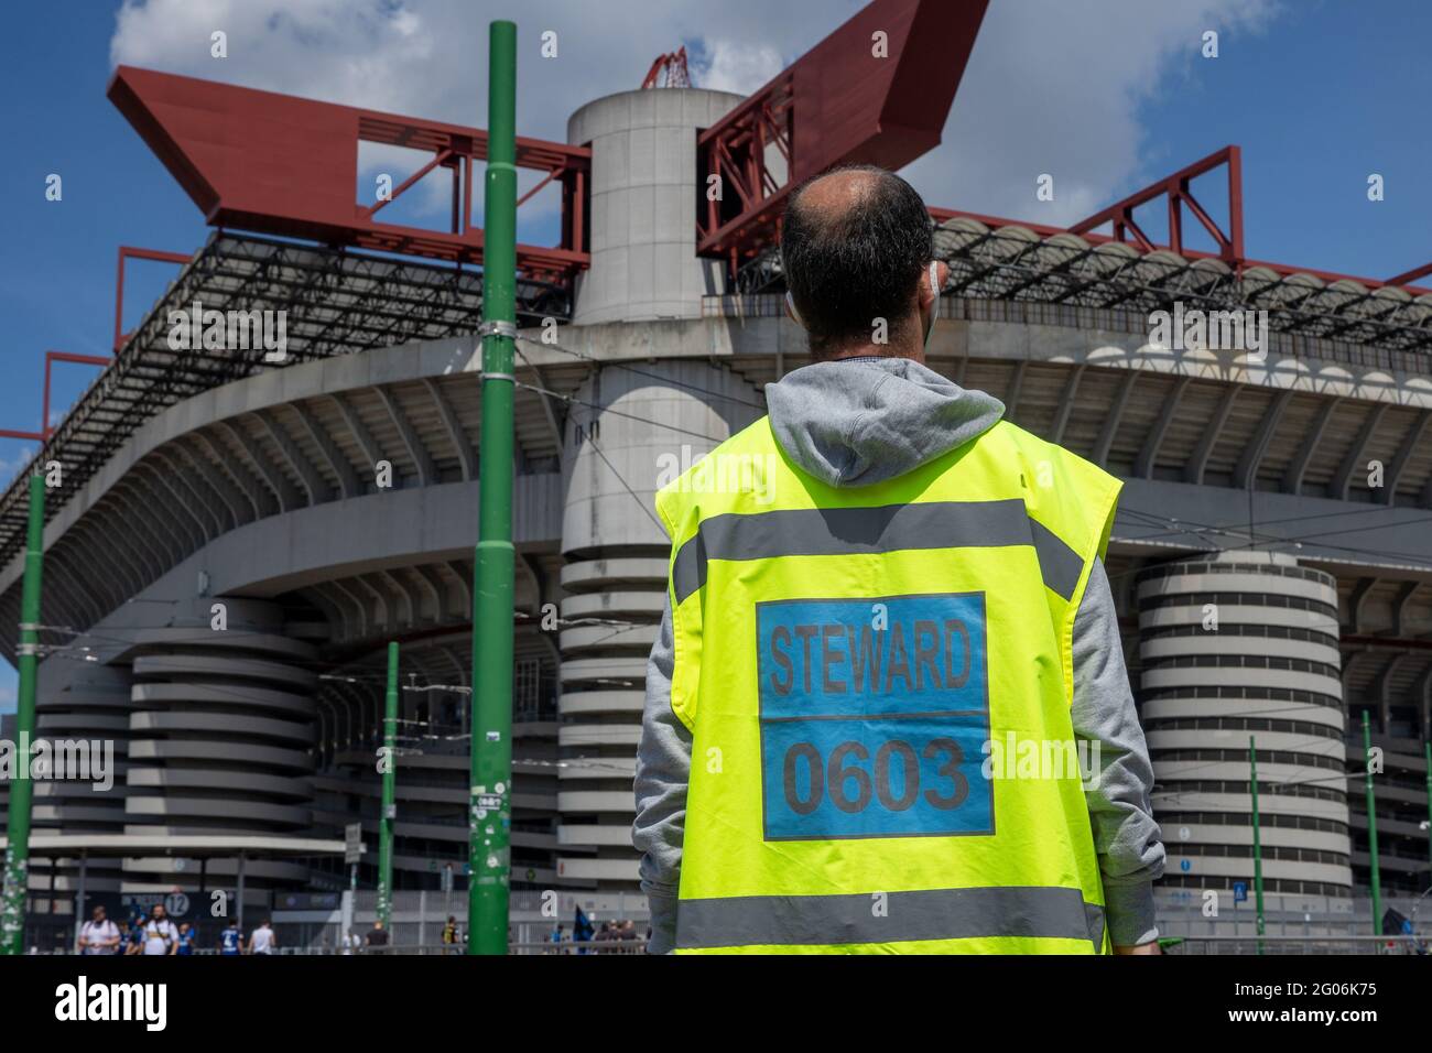
[[[471,169],[487,159],[483,129],[132,66],[115,70],[109,99],[213,226],[453,262],[483,261],[483,229],[467,222]],[[454,166],[457,215],[450,229],[384,223],[374,215],[377,208],[359,205],[359,142],[422,150],[434,155],[434,165]],[[455,166],[464,169],[461,176]],[[564,232],[564,242],[554,248],[518,245],[518,271],[531,278],[563,278],[587,266],[590,256],[579,248],[580,223],[573,219],[581,211],[581,176],[591,168],[591,150],[520,136],[517,166],[560,181]]]

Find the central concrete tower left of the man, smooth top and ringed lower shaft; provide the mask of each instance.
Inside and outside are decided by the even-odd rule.
[[[739,100],[657,89],[573,115],[569,142],[593,150],[591,269],[577,284],[577,327],[624,324],[646,341],[663,332],[649,322],[700,317],[716,265],[696,256],[696,135]],[[637,877],[632,775],[670,550],[652,499],[759,405],[746,381],[705,361],[603,367],[573,403],[563,448],[563,878],[630,888]]]

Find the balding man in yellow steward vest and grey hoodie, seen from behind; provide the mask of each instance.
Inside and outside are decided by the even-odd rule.
[[[1103,564],[1121,484],[925,365],[932,229],[879,168],[799,186],[780,269],[812,362],[656,494],[653,953],[1157,953],[1164,848]]]

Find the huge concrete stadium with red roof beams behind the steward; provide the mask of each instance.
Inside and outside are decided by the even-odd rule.
[[[935,148],[982,14],[876,0],[750,96],[669,56],[646,87],[573,99],[566,142],[518,136],[561,236],[517,254],[514,925],[543,924],[546,890],[644,918],[632,778],[669,556],[652,496],[809,361],[775,251],[789,192]],[[84,894],[225,888],[316,940],[349,887],[345,827],[377,837],[397,640],[398,920],[435,931],[468,858],[487,135],[129,66],[109,100],[213,231],[193,254],[119,248],[113,357],[32,436],[63,471],[39,734],[116,744],[112,789],[36,788],[32,925],[72,927]],[[359,142],[430,158],[394,196],[448,173],[451,225],[355,202]],[[1203,894],[1252,884],[1250,736],[1270,917],[1335,928],[1369,913],[1365,718],[1380,887],[1429,884],[1432,265],[1250,258],[1239,148],[1190,162],[1068,228],[931,202],[951,275],[928,361],[1124,481],[1108,572],[1164,928],[1220,931]],[[1216,251],[1184,244],[1194,226]],[[122,332],[133,259],[173,278]],[[209,340],[211,312],[255,338]],[[282,319],[281,351],[259,319]],[[27,474],[0,497],[11,660]]]

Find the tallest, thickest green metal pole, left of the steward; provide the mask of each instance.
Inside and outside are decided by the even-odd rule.
[[[513,792],[513,337],[517,335],[517,26],[488,27],[483,436],[473,583],[467,953],[507,953]]]

